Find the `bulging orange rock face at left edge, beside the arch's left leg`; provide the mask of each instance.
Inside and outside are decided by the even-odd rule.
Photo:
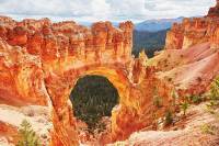
[[[46,88],[41,59],[19,46],[0,41],[1,98],[23,104],[46,104]]]

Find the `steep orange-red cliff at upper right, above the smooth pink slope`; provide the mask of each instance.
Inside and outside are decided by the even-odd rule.
[[[217,42],[215,35],[217,35],[218,16],[219,1],[217,1],[216,7],[210,8],[206,16],[184,19],[183,23],[175,23],[168,32],[165,48],[184,49],[206,42],[212,42],[212,45],[215,45]]]

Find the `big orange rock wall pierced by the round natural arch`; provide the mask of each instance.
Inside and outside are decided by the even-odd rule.
[[[112,133],[103,143],[127,138],[152,120],[152,87],[159,85],[164,101],[171,90],[155,78],[153,68],[146,68],[146,58],[131,57],[132,27],[131,22],[119,27],[97,22],[88,29],[71,21],[0,18],[0,100],[49,106],[51,145],[78,145],[70,92],[80,77],[104,76],[120,101],[112,111]]]

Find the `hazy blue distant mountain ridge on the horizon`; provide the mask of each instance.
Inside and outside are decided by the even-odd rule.
[[[135,30],[137,31],[147,31],[147,32],[158,32],[162,30],[168,30],[172,26],[173,23],[182,22],[183,16],[177,19],[160,19],[160,20],[147,20],[141,23],[137,23]]]

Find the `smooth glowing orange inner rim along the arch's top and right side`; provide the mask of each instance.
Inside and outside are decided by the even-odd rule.
[[[132,88],[132,85],[128,79],[127,71],[124,68],[120,68],[118,66],[94,67],[94,68],[91,67],[88,70],[80,72],[79,76],[77,76],[76,80],[73,81],[73,86],[71,87],[71,90],[73,90],[74,86],[77,85],[77,81],[80,78],[83,78],[85,76],[105,77],[113,85],[113,87],[117,90],[119,101],[117,103],[117,106],[113,108],[113,110],[112,110],[112,116],[111,116],[112,133],[111,133],[111,135],[107,135],[107,138],[110,138],[110,141],[108,139],[107,141],[114,142],[115,138],[118,137],[118,135],[119,135],[120,139],[124,139],[125,137],[127,137],[127,135],[124,134],[126,132],[125,132],[125,130],[122,130],[120,125],[123,125],[123,119],[125,116],[129,116],[129,115],[120,116],[123,114],[122,111],[130,112],[129,109],[132,109],[132,110],[135,109],[135,106],[132,106],[132,105],[135,105],[134,100],[130,98],[130,89]],[[69,91],[68,96],[70,96],[70,93],[71,93],[70,91]],[[119,122],[119,123],[117,123],[117,122]],[[128,121],[124,121],[124,122],[125,122],[124,125],[127,125],[126,123],[129,123]],[[122,131],[124,131],[123,134],[120,133]],[[106,142],[106,143],[108,143],[108,142]]]

